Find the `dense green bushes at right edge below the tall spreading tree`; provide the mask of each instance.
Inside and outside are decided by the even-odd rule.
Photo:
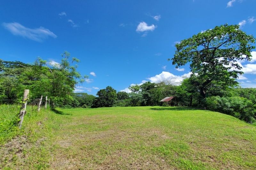
[[[248,123],[255,122],[256,107],[251,100],[243,97],[208,97],[206,98],[206,108],[232,115]]]

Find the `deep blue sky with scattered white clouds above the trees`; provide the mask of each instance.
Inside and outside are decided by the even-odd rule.
[[[145,81],[179,83],[174,44],[214,26],[239,24],[256,36],[255,0],[1,1],[0,58],[60,62],[67,50],[89,80],[76,92],[117,91]],[[255,50],[256,51],[256,50]],[[256,87],[256,52],[242,62],[241,86]],[[127,89],[126,89],[127,90]]]

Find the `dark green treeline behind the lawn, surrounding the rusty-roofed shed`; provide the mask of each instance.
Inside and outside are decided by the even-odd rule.
[[[91,107],[126,106],[188,106],[208,109],[232,115],[246,122],[254,123],[256,118],[256,88],[230,88],[215,86],[204,99],[190,78],[181,85],[146,82],[130,87],[131,93],[116,92],[108,86],[100,90]],[[175,96],[168,104],[161,99]]]

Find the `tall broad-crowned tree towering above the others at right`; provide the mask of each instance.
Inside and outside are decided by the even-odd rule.
[[[237,85],[238,74],[243,74],[237,61],[251,60],[254,42],[255,38],[240,30],[238,25],[216,26],[176,44],[172,64],[176,68],[190,64],[191,82],[205,99],[214,85]]]

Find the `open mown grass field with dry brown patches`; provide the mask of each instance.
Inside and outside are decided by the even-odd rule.
[[[39,117],[2,144],[0,169],[256,169],[256,127],[217,112],[59,108]]]

